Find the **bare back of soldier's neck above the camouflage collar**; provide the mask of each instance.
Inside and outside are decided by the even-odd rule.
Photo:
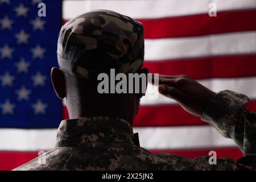
[[[130,124],[137,112],[139,101],[133,95],[96,95],[76,94],[67,97],[69,118],[81,117],[118,117]],[[79,97],[80,96],[80,97]]]

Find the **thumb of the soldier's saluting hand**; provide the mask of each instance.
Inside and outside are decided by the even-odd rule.
[[[186,94],[184,94],[183,92],[181,92],[180,90],[172,86],[159,85],[158,90],[159,90],[159,93],[163,94],[168,98],[172,98],[177,102],[182,102],[186,97]]]

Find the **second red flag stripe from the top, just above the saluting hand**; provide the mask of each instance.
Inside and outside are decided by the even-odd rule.
[[[194,79],[256,76],[256,55],[145,61],[143,67],[162,75],[185,74]]]

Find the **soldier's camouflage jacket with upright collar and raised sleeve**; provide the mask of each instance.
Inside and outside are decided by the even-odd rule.
[[[256,169],[256,114],[245,109],[247,101],[243,94],[222,91],[209,102],[201,118],[237,143],[244,154],[237,162],[220,158],[210,165],[209,156],[187,159],[151,154],[138,146],[132,127],[124,119],[85,117],[61,121],[56,147],[14,170]],[[43,157],[46,163],[39,162]]]

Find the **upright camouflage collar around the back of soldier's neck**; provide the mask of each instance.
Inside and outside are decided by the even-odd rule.
[[[84,143],[125,142],[139,146],[138,134],[130,123],[117,117],[84,117],[67,119],[57,130],[56,146],[77,146]]]

